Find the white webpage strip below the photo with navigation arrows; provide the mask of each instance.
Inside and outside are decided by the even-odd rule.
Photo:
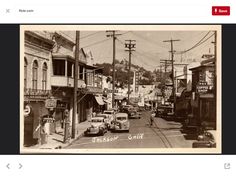
[[[2,177],[235,177],[229,155],[1,156]],[[20,166],[20,165],[22,166]],[[8,165],[9,168],[6,168]],[[19,169],[20,168],[20,169]]]

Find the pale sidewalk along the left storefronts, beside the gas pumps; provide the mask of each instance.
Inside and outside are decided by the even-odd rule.
[[[67,143],[64,143],[64,129],[57,128],[57,133],[52,133],[48,136],[47,144],[37,144],[31,147],[25,147],[26,149],[62,149],[71,144],[76,139],[84,135],[85,130],[89,127],[88,121],[81,122],[77,125],[77,135],[75,139],[70,139]]]

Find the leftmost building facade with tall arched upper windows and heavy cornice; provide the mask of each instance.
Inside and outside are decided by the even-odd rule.
[[[41,34],[24,34],[24,145],[37,143],[40,117],[47,114],[44,101],[51,94],[51,58],[54,42]]]

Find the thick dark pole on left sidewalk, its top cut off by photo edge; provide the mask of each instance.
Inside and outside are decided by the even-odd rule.
[[[77,114],[77,91],[78,91],[78,64],[79,64],[79,41],[80,31],[76,31],[75,41],[75,70],[74,70],[74,95],[73,95],[73,118],[72,118],[72,136],[76,134],[76,114]]]

